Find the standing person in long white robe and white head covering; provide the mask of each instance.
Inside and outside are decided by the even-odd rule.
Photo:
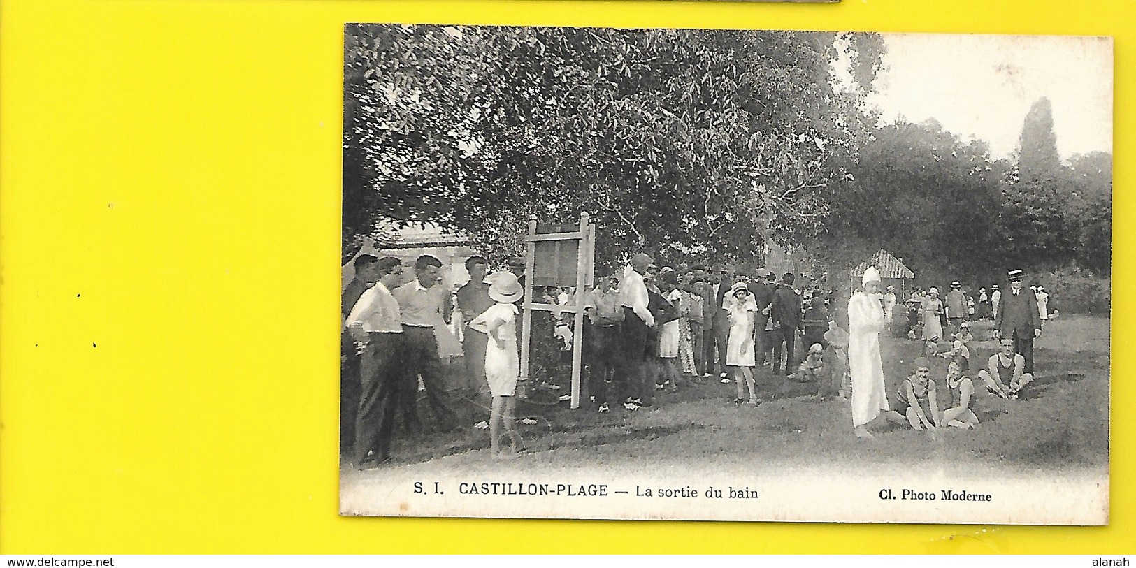
[[[884,364],[879,356],[879,332],[884,329],[884,306],[879,272],[869,266],[863,290],[849,300],[849,370],[852,375],[852,426],[859,437],[875,437],[868,423],[888,410],[884,386]]]

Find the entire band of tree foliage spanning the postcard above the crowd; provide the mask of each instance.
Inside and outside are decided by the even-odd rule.
[[[531,216],[596,256],[844,270],[879,248],[927,284],[1111,267],[1111,156],[1063,166],[1046,99],[1016,160],[934,120],[878,126],[875,34],[348,26],[344,253],[433,223],[493,260]]]

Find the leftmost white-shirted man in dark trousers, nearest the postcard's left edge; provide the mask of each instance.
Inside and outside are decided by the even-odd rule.
[[[356,463],[374,467],[391,459],[394,412],[407,396],[417,391],[402,371],[402,314],[391,287],[399,285],[402,266],[394,257],[375,264],[378,282],[351,308],[346,325],[356,341],[365,344],[359,361],[362,385],[356,416]]]

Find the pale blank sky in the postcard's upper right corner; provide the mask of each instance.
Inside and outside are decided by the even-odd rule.
[[[869,98],[882,123],[935,118],[994,158],[1018,149],[1022,120],[1053,103],[1058,152],[1112,151],[1112,41],[1039,35],[884,34],[885,69]]]

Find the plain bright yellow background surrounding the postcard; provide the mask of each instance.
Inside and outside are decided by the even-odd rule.
[[[340,518],[335,443],[343,23],[1114,35],[1124,315],[1134,7],[5,0],[0,552],[1136,552],[1124,316],[1109,527]]]

